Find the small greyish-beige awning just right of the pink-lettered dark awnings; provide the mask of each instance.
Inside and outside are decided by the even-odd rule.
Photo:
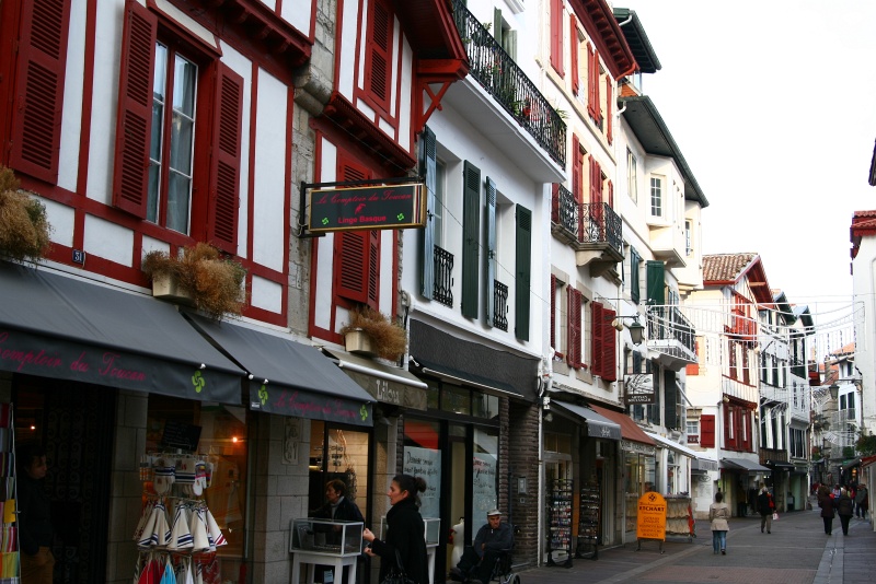
[[[323,349],[322,352],[378,401],[426,411],[428,385],[413,373],[338,349]]]

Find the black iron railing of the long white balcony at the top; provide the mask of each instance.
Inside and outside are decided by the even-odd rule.
[[[453,1],[453,17],[472,75],[561,166],[566,165],[566,124],[489,31]]]

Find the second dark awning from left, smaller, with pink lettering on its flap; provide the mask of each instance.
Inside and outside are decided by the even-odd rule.
[[[314,347],[194,314],[186,318],[251,375],[251,409],[373,425],[374,398]]]

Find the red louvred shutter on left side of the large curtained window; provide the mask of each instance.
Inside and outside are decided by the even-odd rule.
[[[125,3],[118,117],[113,166],[113,205],[146,219],[149,187],[149,140],[155,68],[154,14],[134,0]]]

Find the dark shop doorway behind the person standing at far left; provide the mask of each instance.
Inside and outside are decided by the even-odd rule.
[[[55,582],[106,579],[115,392],[64,381],[16,377],[15,443],[46,449],[46,491],[55,528]],[[128,453],[134,457],[135,453]]]

